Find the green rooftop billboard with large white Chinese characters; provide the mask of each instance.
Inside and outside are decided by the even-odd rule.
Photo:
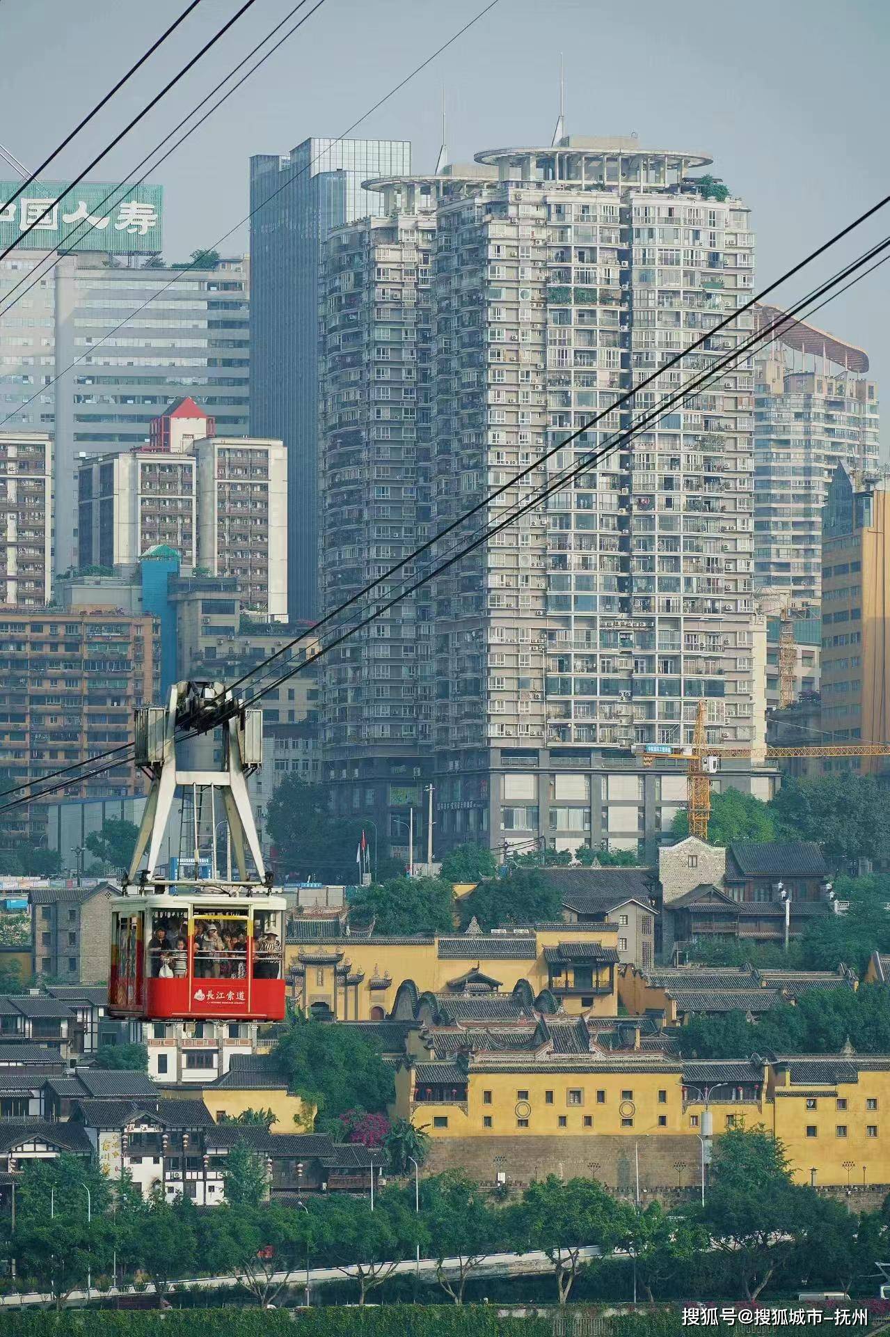
[[[0,182],[0,247],[4,250],[13,242],[16,250],[103,251],[107,255],[155,255],[163,249],[163,186],[82,182],[69,187],[64,180],[35,180],[17,199],[7,203],[20,185]],[[49,213],[40,218],[45,209]],[[31,223],[35,226],[25,234]]]

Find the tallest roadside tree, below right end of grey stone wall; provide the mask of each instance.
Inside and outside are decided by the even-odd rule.
[[[718,1138],[702,1222],[746,1300],[756,1300],[792,1255],[812,1197],[791,1182],[782,1143],[763,1128],[731,1128]]]

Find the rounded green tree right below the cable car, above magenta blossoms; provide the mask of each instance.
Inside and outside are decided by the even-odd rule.
[[[291,1088],[318,1107],[325,1123],[333,1124],[347,1110],[385,1112],[394,1099],[392,1068],[351,1027],[298,1019],[278,1040],[275,1054]]]

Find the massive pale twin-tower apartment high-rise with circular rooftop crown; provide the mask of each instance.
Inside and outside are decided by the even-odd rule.
[[[402,525],[414,508],[417,524],[434,532],[482,503],[457,531],[476,535],[746,337],[748,314],[612,408],[750,295],[748,211],[732,197],[706,198],[688,174],[708,162],[645,151],[636,139],[575,136],[477,154],[485,178],[437,187],[416,241],[406,217],[416,190],[402,198],[378,183],[385,225],[367,225],[365,239],[346,230],[327,247],[325,504],[330,497],[351,517],[355,551],[345,564],[374,571],[392,562],[385,524],[408,552]],[[429,254],[429,294],[414,287],[412,247],[417,274]],[[428,406],[417,401],[409,479],[385,452],[397,441],[405,449],[412,425],[402,322],[416,324],[420,381],[426,308],[433,393]],[[400,368],[392,378],[386,364]],[[346,781],[338,802],[370,805],[382,785],[372,753],[384,738],[416,737],[418,770],[429,766],[436,779],[437,848],[468,838],[636,848],[670,825],[683,777],[661,775],[657,763],[639,769],[635,746],[688,742],[700,699],[712,742],[759,741],[752,393],[742,360],[452,567],[429,603],[417,600],[414,643],[396,610],[376,623],[325,694],[329,774]],[[426,412],[429,485],[420,457]],[[605,417],[595,429],[536,467],[597,412]],[[531,472],[485,507],[520,469]],[[412,673],[394,681],[400,660]],[[416,722],[402,714],[396,683],[408,687]],[[346,741],[353,755],[343,765]],[[759,792],[750,766],[734,782]],[[394,779],[390,810],[398,789]]]

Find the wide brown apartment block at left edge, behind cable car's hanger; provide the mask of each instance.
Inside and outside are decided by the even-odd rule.
[[[13,785],[128,742],[136,706],[158,699],[159,623],[150,615],[0,608],[0,751]],[[65,793],[112,797],[142,787],[134,762],[122,759],[102,775],[75,775]],[[15,808],[4,840],[25,832],[41,840],[52,797]]]

